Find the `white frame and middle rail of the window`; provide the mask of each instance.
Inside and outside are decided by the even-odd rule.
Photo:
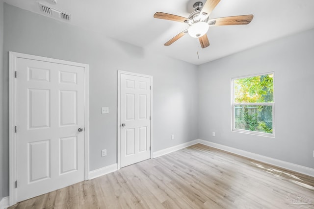
[[[249,78],[249,77],[256,77],[256,76],[261,76],[261,75],[268,75],[268,74],[273,74],[273,102],[265,102],[265,103],[236,103],[235,102],[235,88],[234,88],[234,81],[235,80],[238,80],[241,78]],[[246,106],[246,105],[272,106],[272,131],[273,131],[272,134],[259,132],[259,131],[250,131],[250,130],[235,128],[235,106]],[[234,77],[231,79],[231,131],[238,132],[238,133],[244,133],[244,134],[252,134],[252,135],[257,135],[257,136],[275,138],[275,72],[274,71],[259,73],[259,74],[244,75],[244,76]]]

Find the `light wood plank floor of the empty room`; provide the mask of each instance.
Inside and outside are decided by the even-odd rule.
[[[297,195],[314,203],[313,177],[196,144],[9,209],[293,209]]]

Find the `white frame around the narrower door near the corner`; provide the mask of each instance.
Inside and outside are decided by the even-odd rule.
[[[121,168],[121,74],[127,74],[127,75],[134,75],[134,76],[140,76],[140,77],[146,77],[151,79],[151,150],[150,150],[150,159],[153,158],[153,76],[152,75],[145,75],[135,72],[128,72],[123,70],[118,70],[118,150],[117,150],[117,157],[118,157],[118,169]]]

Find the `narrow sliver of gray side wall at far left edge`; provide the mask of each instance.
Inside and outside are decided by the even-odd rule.
[[[3,197],[2,69],[3,69],[3,0],[0,0],[0,201]]]

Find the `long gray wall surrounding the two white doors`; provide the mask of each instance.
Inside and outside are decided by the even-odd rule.
[[[90,170],[117,163],[117,70],[154,76],[154,151],[197,139],[197,66],[4,4],[3,196],[8,195],[8,51],[89,64]],[[109,114],[102,115],[101,107],[109,107]],[[102,149],[107,149],[103,158]]]

